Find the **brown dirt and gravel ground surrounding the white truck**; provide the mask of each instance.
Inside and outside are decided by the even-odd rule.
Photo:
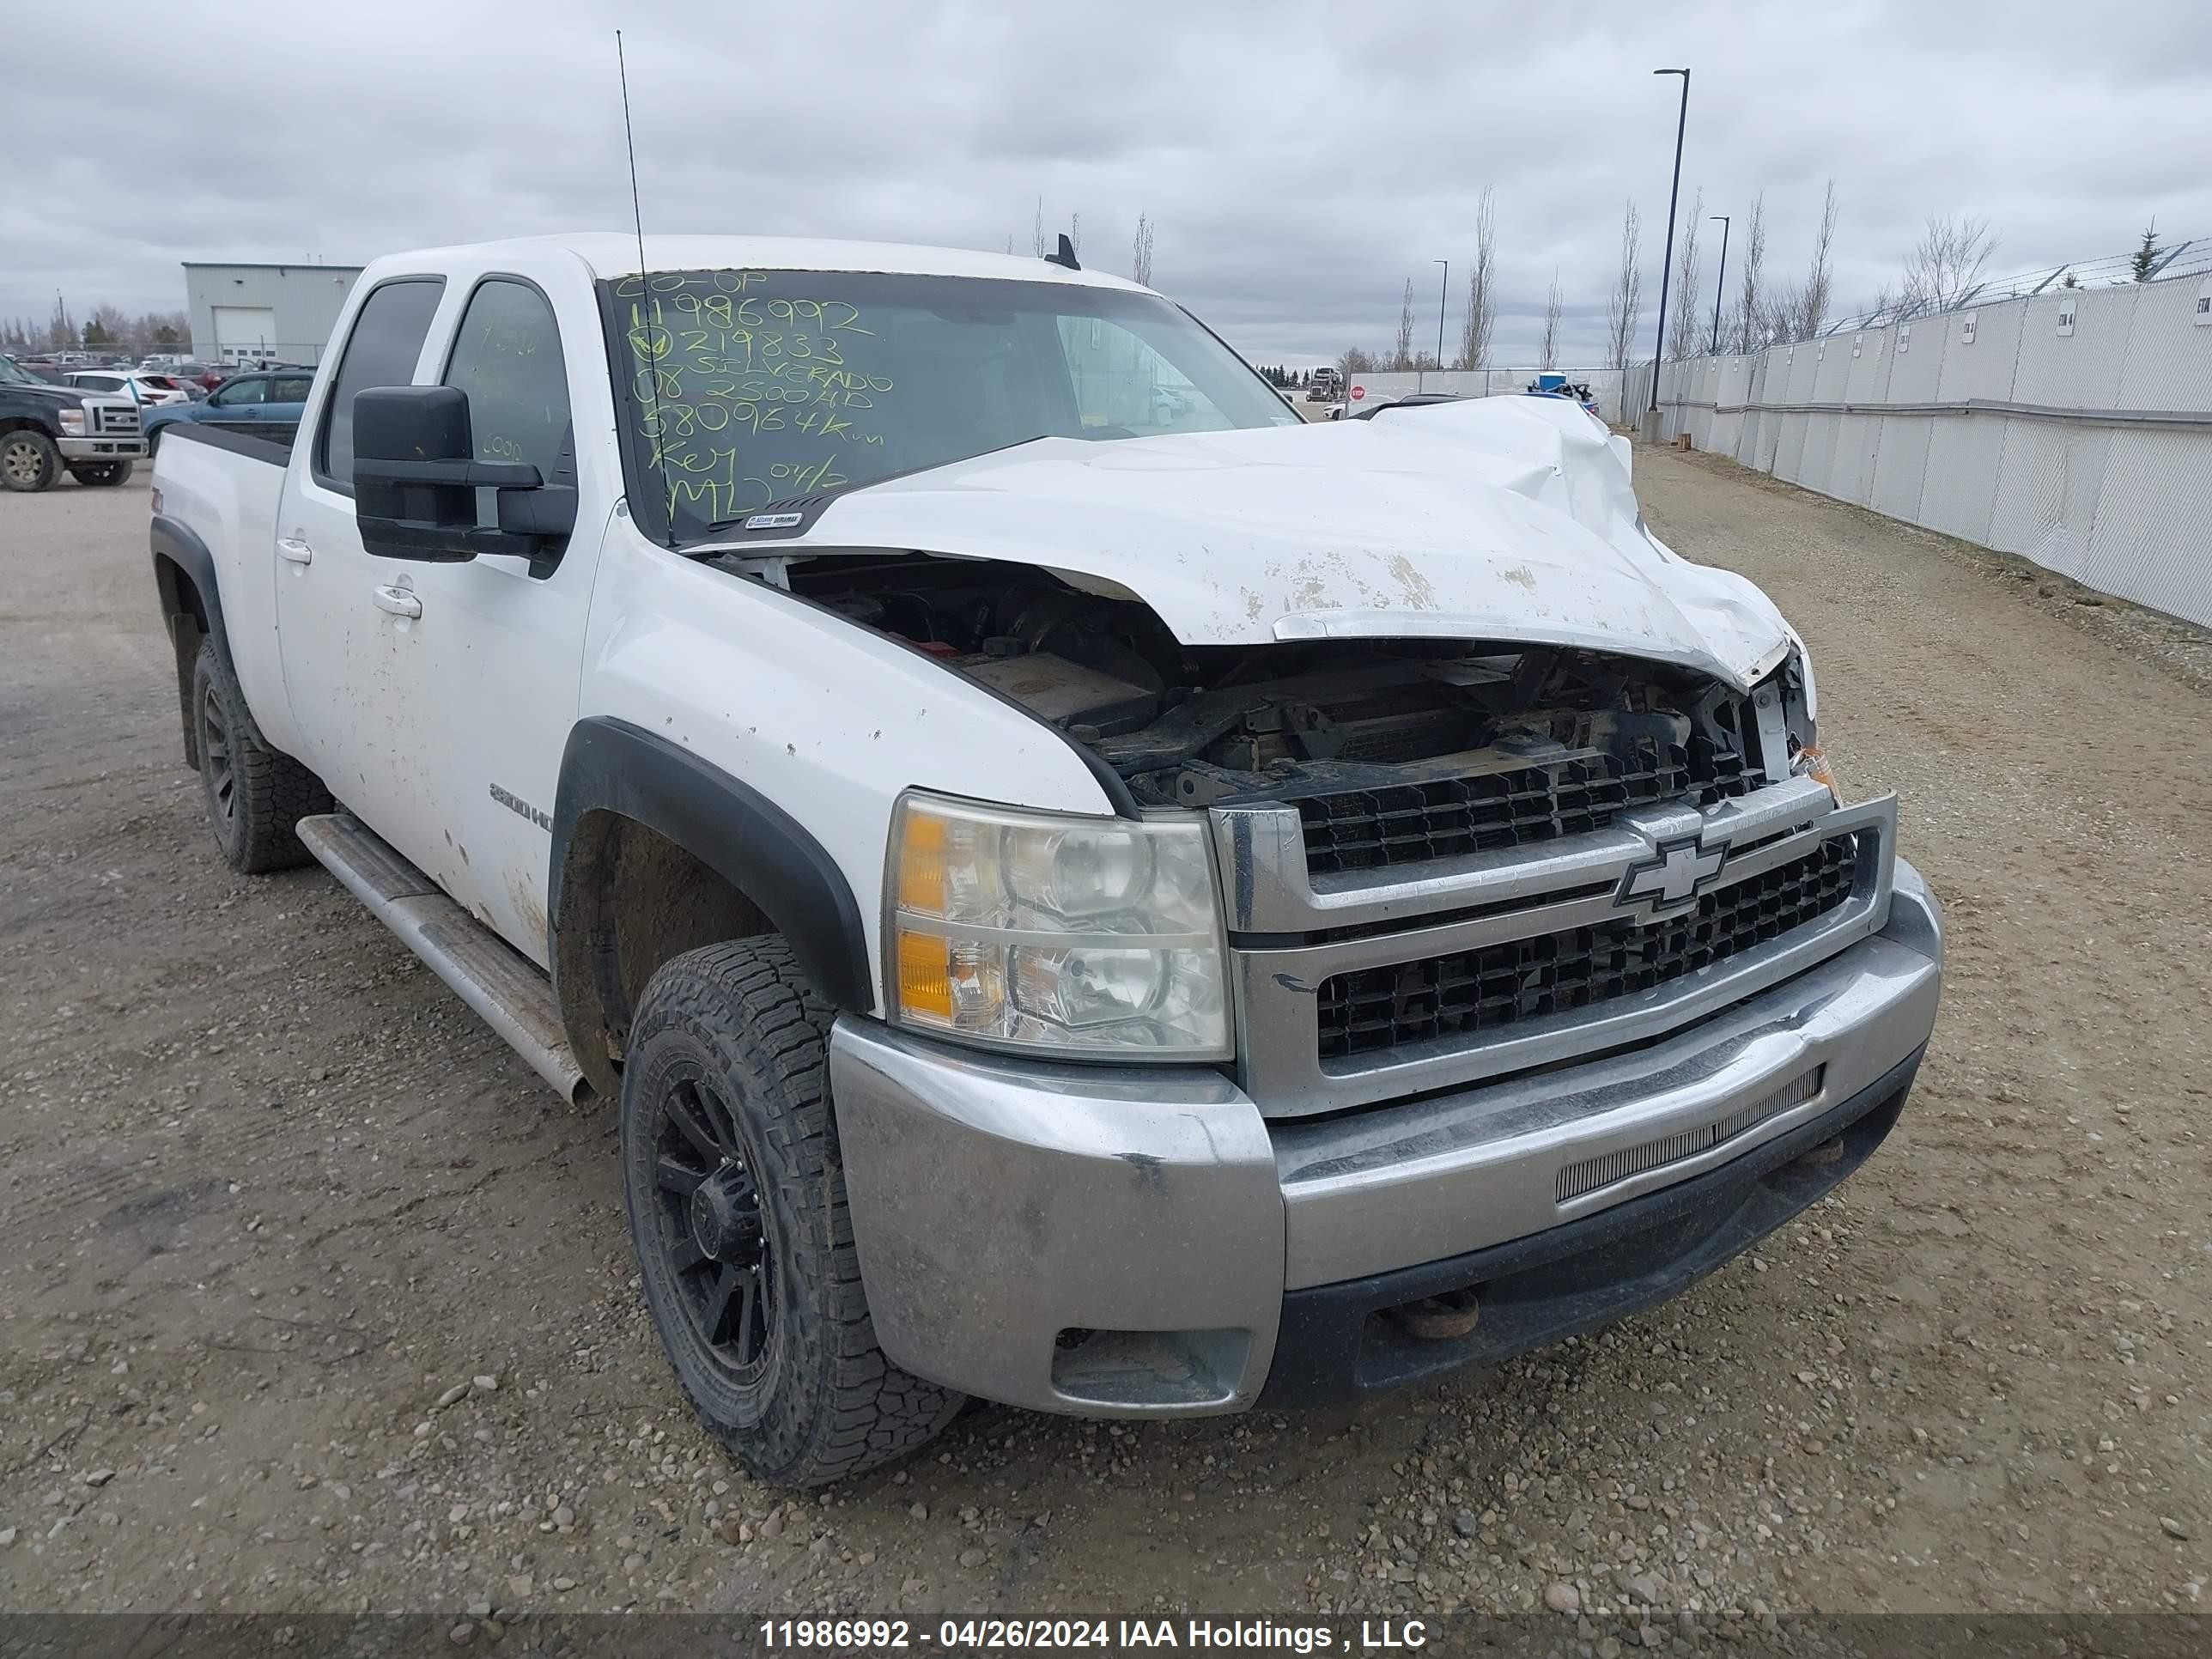
[[[0,495],[0,1597],[1551,1604],[1599,1644],[1652,1604],[2205,1608],[2201,644],[1723,462],[1639,469],[1677,549],[1803,628],[1847,792],[1905,796],[1949,907],[1882,1155],[1688,1298],[1349,1425],[980,1409],[801,1504],[681,1409],[613,1119],[321,872],[217,863],[144,476]]]

